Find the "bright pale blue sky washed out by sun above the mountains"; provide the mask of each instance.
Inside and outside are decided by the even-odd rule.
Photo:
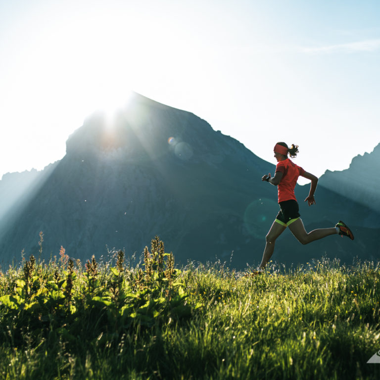
[[[130,91],[317,176],[380,142],[378,0],[0,0],[0,57],[0,178]]]

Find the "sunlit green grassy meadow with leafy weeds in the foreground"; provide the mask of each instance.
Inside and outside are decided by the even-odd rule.
[[[379,379],[379,302],[373,262],[253,275],[178,269],[158,237],[134,266],[61,247],[0,272],[0,379]]]

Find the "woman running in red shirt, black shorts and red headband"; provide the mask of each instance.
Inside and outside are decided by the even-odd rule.
[[[310,192],[305,202],[311,206],[315,204],[314,192],[317,188],[318,178],[311,173],[305,172],[301,167],[294,164],[289,158],[294,158],[298,153],[298,145],[292,144],[290,148],[285,142],[278,142],[274,148],[277,159],[276,173],[272,177],[271,173],[264,175],[262,181],[278,187],[280,212],[272,224],[271,229],[266,236],[266,244],[263,259],[258,270],[263,270],[271,258],[275,249],[276,239],[289,227],[291,233],[302,244],[308,244],[311,241],[325,238],[329,235],[339,234],[354,239],[351,230],[342,222],[336,223],[335,227],[323,228],[306,232],[298,212],[298,203],[294,195],[295,184],[299,176],[311,181]]]

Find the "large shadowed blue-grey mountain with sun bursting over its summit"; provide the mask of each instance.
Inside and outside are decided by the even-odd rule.
[[[33,191],[24,186],[28,190],[17,194],[0,220],[0,260],[17,261],[22,249],[38,256],[43,231],[45,258],[58,255],[61,245],[82,260],[92,254],[108,259],[113,249],[139,257],[159,235],[177,262],[221,259],[240,269],[257,264],[278,212],[277,188],[261,181],[274,168],[192,113],[135,94],[112,120],[89,117],[67,140],[66,155],[35,177]],[[26,176],[3,177],[5,203],[15,178]],[[305,248],[286,232],[274,260],[380,256],[368,238],[370,228],[380,228],[379,213],[323,187],[318,206],[309,208],[302,202],[308,191],[296,188],[306,228],[342,219],[356,239],[329,237]]]

